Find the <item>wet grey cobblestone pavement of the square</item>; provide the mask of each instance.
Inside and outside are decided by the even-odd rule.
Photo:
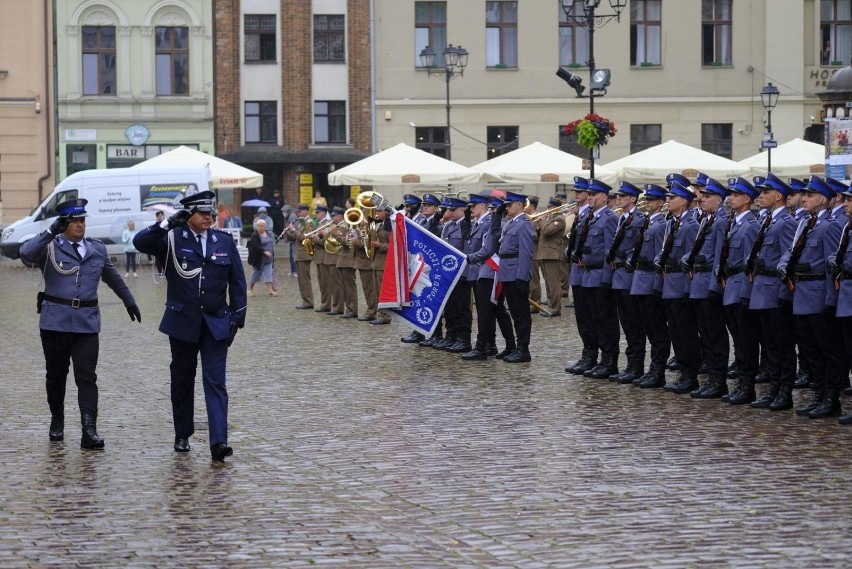
[[[172,451],[148,267],[141,325],[101,291],[106,449],[79,448],[73,381],[50,443],[38,273],[0,262],[0,566],[849,566],[850,428],[568,376],[570,310],[535,317],[531,364],[463,364],[293,309],[279,271],[232,348],[217,465],[203,430]]]

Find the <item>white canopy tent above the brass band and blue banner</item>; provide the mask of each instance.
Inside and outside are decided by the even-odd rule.
[[[407,144],[397,144],[329,173],[331,186],[475,184],[481,174]]]

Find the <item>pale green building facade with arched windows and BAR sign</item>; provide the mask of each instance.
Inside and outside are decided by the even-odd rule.
[[[215,151],[210,2],[66,0],[55,34],[58,179]]]

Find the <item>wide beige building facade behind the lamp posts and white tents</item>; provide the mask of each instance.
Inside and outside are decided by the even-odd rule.
[[[587,152],[563,127],[589,112],[589,99],[555,72],[577,74],[588,94],[589,32],[565,17],[562,2],[375,6],[378,149],[405,142],[442,153],[446,86],[419,54],[453,44],[469,54],[449,85],[454,161],[470,166],[535,141]],[[606,0],[597,10],[613,12]],[[774,139],[819,138],[815,94],[852,57],[852,0],[629,0],[620,21],[596,28],[594,56],[596,68],[611,70],[595,112],[618,128],[598,163],[670,139],[741,160],[759,151],[768,82],[780,91]]]

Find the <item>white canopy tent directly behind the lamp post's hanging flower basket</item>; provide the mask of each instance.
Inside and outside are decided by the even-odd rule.
[[[482,172],[488,181],[512,184],[574,184],[574,176],[589,177],[583,159],[556,148],[533,142],[497,158],[471,167]],[[595,166],[595,178],[607,184],[616,182],[613,170]]]

